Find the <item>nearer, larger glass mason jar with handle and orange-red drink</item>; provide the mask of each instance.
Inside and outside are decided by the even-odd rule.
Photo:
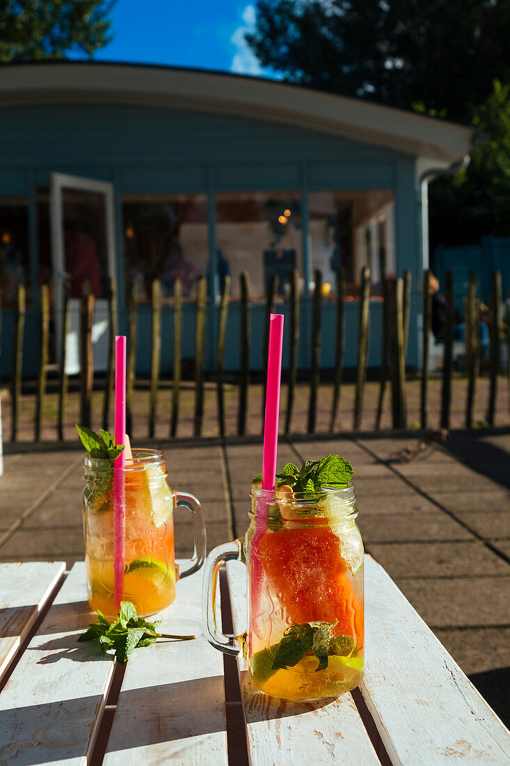
[[[266,694],[316,700],[348,692],[364,668],[363,543],[355,491],[274,492],[252,485],[243,538],[214,548],[204,569],[204,632],[216,649],[243,652]],[[221,565],[248,571],[247,630],[218,630],[214,596]]]

